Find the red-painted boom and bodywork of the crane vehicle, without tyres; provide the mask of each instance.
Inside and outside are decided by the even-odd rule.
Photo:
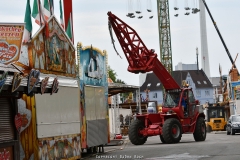
[[[179,120],[182,127],[182,133],[193,133],[195,131],[197,118],[199,116],[204,117],[204,115],[202,113],[200,115],[198,110],[195,109],[195,112],[191,116],[184,116],[181,101],[184,92],[186,90],[191,92],[191,88],[180,88],[162,63],[157,59],[157,54],[154,53],[154,50],[147,49],[134,29],[111,12],[108,12],[108,16],[109,25],[112,26],[128,60],[128,71],[133,73],[153,71],[163,84],[166,92],[177,91],[180,93],[179,104],[176,106],[169,108],[165,107],[163,104],[161,113],[137,115],[136,118],[142,120],[145,125],[145,128],[139,129],[138,134],[146,137],[162,135],[163,124],[168,118],[176,118]],[[196,100],[194,104],[189,103],[188,105],[192,107],[192,105],[196,106],[198,104],[199,101]],[[177,134],[178,129],[177,126],[173,127],[172,133]]]

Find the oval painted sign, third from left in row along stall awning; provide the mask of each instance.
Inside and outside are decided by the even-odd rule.
[[[35,85],[38,84],[38,82],[40,81],[39,76],[40,76],[39,70],[32,69],[31,72],[29,73],[27,83],[28,94],[32,92]]]

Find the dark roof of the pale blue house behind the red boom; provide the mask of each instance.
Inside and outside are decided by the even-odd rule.
[[[196,88],[212,87],[211,82],[209,81],[208,77],[202,69],[173,71],[172,76],[173,79],[178,83],[178,85],[182,86],[182,80],[186,80],[188,73],[190,74],[193,82],[195,83]],[[142,92],[147,89],[147,85],[149,85],[148,89],[150,91],[162,90],[162,84],[159,86],[159,83],[161,84],[161,82],[154,73],[148,73],[145,82],[140,87],[140,91]]]

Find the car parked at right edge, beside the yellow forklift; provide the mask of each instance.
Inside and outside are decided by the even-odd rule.
[[[227,135],[240,133],[240,115],[231,115],[227,124]]]

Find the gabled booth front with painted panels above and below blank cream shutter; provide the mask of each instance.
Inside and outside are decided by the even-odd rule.
[[[34,159],[79,159],[80,90],[75,48],[54,16],[35,34],[29,48],[30,67],[40,70],[43,79],[56,75],[59,82],[57,94],[35,96]]]

